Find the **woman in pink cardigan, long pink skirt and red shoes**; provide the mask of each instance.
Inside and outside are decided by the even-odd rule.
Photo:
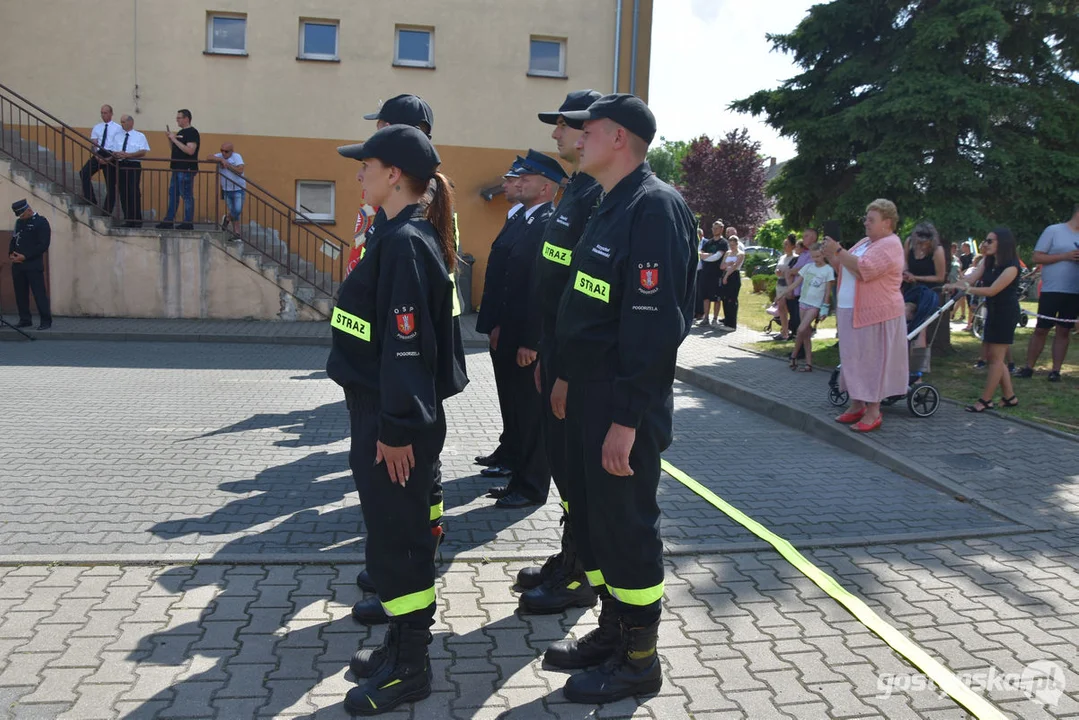
[[[824,256],[838,276],[841,388],[850,407],[836,422],[858,433],[880,427],[880,400],[906,393],[907,349],[903,294],[903,243],[899,210],[889,200],[865,208],[865,237],[849,250],[825,239]]]

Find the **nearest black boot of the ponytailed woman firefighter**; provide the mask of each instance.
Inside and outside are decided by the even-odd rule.
[[[353,688],[344,697],[344,708],[351,715],[382,715],[402,703],[415,703],[431,694],[431,658],[427,642],[431,633],[425,627],[412,627],[398,622],[386,646],[385,660],[367,682]]]

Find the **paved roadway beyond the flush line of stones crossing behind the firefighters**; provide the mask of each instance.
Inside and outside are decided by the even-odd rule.
[[[17,402],[0,419],[2,555],[167,561],[363,557],[349,420],[317,347],[3,345]],[[555,493],[502,511],[472,458],[500,432],[490,362],[448,404],[447,556],[544,557]],[[984,508],[679,385],[667,458],[795,541],[1014,530]],[[681,484],[660,487],[668,549],[753,542]],[[119,595],[114,596],[119,598]],[[117,600],[119,601],[119,600]]]

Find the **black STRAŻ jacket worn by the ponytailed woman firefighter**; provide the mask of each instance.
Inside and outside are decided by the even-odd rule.
[[[379,439],[400,447],[468,383],[454,330],[453,285],[438,235],[419,205],[380,222],[333,309],[329,377],[372,396]]]

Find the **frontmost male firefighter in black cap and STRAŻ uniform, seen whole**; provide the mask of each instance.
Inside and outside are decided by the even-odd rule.
[[[604,190],[573,250],[551,391],[566,421],[570,519],[603,606],[599,628],[555,643],[544,658],[592,668],[569,679],[566,699],[609,703],[663,684],[656,489],[671,443],[678,348],[693,318],[696,222],[645,162],[656,123],[640,98],[605,95],[562,116],[584,128],[581,169]]]

